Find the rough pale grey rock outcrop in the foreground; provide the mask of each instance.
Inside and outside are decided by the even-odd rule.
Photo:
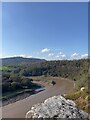
[[[61,95],[48,98],[44,103],[34,105],[26,118],[79,118],[89,120],[88,113],[79,110],[72,100]]]

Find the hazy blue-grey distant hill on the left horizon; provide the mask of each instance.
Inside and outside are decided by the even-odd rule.
[[[23,57],[11,57],[11,58],[2,58],[0,59],[0,63],[2,60],[2,65],[17,65],[24,63],[35,63],[35,62],[44,62],[45,59],[37,59],[37,58],[23,58]]]

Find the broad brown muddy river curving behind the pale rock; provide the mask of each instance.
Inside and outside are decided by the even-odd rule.
[[[48,89],[27,97],[23,100],[2,107],[3,118],[25,118],[26,112],[37,103],[43,102],[51,96],[65,94],[72,91],[74,83],[70,80],[55,77],[56,84]]]

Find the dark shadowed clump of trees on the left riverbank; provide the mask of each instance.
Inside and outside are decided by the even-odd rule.
[[[31,78],[20,77],[17,74],[3,74],[2,75],[2,92],[12,92],[20,89],[33,89],[38,87],[38,85],[32,83]]]

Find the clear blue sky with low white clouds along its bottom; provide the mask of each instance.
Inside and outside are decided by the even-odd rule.
[[[2,57],[87,57],[88,3],[3,3],[2,38]]]

